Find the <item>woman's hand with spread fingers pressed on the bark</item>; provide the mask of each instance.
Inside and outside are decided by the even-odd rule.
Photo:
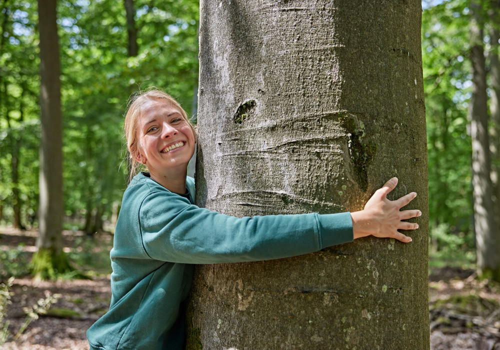
[[[364,209],[351,212],[354,239],[374,235],[375,237],[390,237],[401,242],[411,242],[411,238],[398,229],[417,229],[418,225],[406,222],[412,217],[420,216],[420,210],[402,210],[414,197],[415,192],[408,193],[396,200],[388,200],[387,194],[395,188],[397,178],[392,177],[379,188],[364,205]]]

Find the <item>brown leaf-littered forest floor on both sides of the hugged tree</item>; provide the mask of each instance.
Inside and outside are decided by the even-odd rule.
[[[34,251],[36,234],[0,228],[1,282],[9,273],[22,275],[23,263]],[[16,340],[10,335],[0,348],[88,349],[85,332],[109,306],[112,235],[87,237],[81,232],[64,231],[64,241],[64,250],[91,279],[74,279],[71,275],[56,281],[15,278],[6,317],[11,334],[26,320],[23,308],[39,299],[47,300],[49,295],[60,296],[46,314],[33,319]],[[471,268],[429,269],[429,316],[432,350],[500,350],[500,284],[477,279]],[[0,331],[1,323],[0,319]]]

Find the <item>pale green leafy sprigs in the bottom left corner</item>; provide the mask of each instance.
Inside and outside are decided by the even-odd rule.
[[[10,297],[13,295],[13,292],[10,291],[13,281],[14,277],[10,277],[6,283],[0,284],[0,347],[3,346],[10,336],[10,332],[7,329],[9,322],[5,321],[5,318],[7,316],[7,305],[11,303]],[[48,294],[45,298],[39,299],[35,305],[23,307],[26,318],[24,318],[19,330],[14,335],[14,341],[21,336],[32,320],[38,319],[38,315],[40,314],[46,314],[50,306],[56,303],[60,296],[60,294]]]

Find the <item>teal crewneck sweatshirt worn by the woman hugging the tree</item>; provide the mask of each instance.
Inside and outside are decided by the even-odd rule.
[[[353,240],[350,213],[237,218],[193,204],[137,174],[123,194],[111,249],[111,304],[90,349],[182,349],[194,265],[275,259]]]

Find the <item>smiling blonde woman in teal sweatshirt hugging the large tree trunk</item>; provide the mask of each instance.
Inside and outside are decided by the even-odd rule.
[[[401,220],[419,210],[399,210],[416,193],[386,198],[396,178],[350,213],[237,218],[197,207],[194,180],[186,177],[194,128],[162,91],[133,99],[125,136],[134,171],[140,164],[148,171],[135,175],[123,194],[110,254],[111,305],[87,331],[91,349],[183,348],[193,264],[299,255],[370,234],[410,242],[397,230],[418,228]]]

